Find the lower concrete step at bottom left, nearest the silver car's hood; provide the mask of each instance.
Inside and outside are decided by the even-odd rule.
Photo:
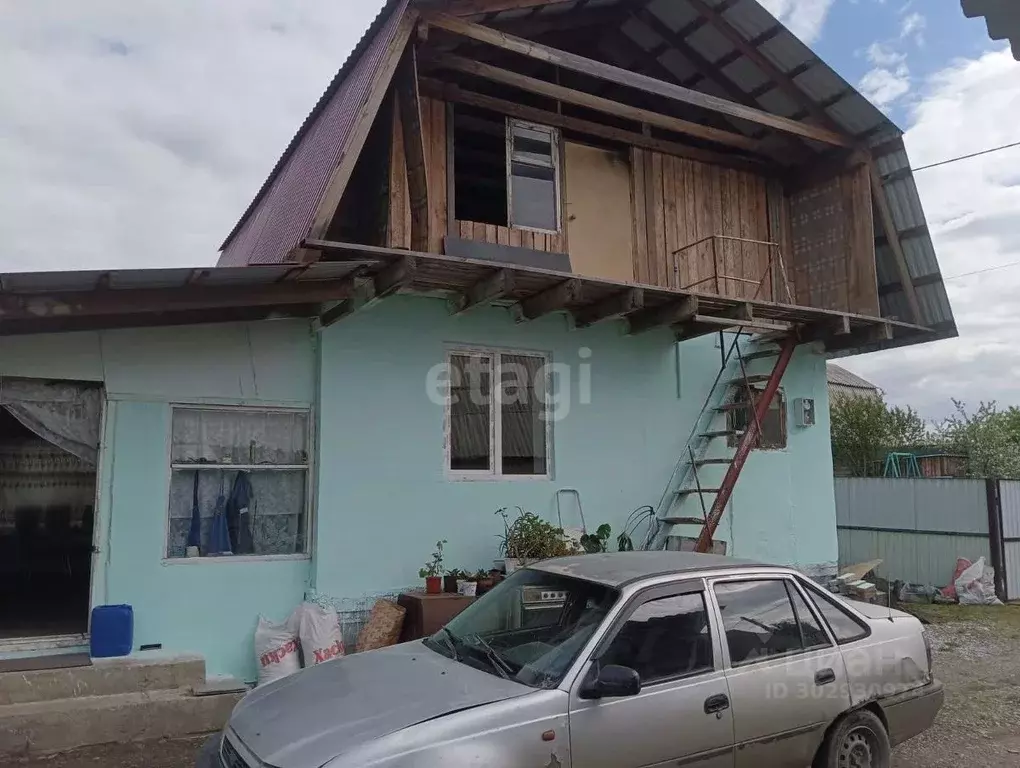
[[[209,733],[226,724],[240,700],[150,690],[0,706],[0,765],[15,756]]]

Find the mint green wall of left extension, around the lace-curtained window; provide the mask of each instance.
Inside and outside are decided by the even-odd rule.
[[[93,605],[134,607],[136,649],[201,653],[210,674],[253,679],[258,614],[279,620],[301,602],[310,559],[163,559],[170,404],[311,405],[307,324],[0,338],[0,375],[105,383]]]

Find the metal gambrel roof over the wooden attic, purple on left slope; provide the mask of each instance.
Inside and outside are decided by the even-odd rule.
[[[381,57],[393,44],[398,19],[412,3],[413,0],[386,3],[227,237],[220,264],[282,263],[307,236],[329,174],[348,150],[355,116],[365,103],[367,84],[378,73]],[[455,3],[456,0],[432,0],[429,8],[442,9]],[[642,15],[649,19],[649,23],[644,23],[631,18],[622,25],[621,31],[631,47],[636,46],[646,54],[654,53],[658,63],[678,82],[697,73],[699,65],[692,57],[699,58],[719,67],[725,79],[745,92],[757,108],[803,119],[804,105],[813,105],[842,131],[873,149],[894,225],[901,236],[921,321],[936,328],[941,337],[956,336],[949,297],[903,145],[903,132],[822,62],[758,0],[653,0],[651,3],[591,0],[586,4],[585,0],[534,0],[533,3],[507,2],[502,4],[507,10],[479,15],[484,23],[499,25],[524,15],[528,15],[529,20],[552,20],[582,6],[606,9],[626,4],[634,9],[645,7],[647,12]],[[696,4],[707,6],[711,13],[720,17],[744,45],[737,45],[734,37],[723,35],[699,13]],[[679,38],[679,44],[664,38],[664,32]],[[747,55],[742,48],[753,55]],[[612,50],[604,53],[611,60],[615,59],[612,63],[618,66],[632,64]],[[793,86],[777,82],[777,73],[792,81]],[[697,89],[731,98],[711,79],[703,79]],[[737,131],[753,130],[740,120],[732,124]],[[763,140],[766,146],[773,141],[775,155],[781,157],[786,145],[777,137]],[[809,146],[818,152],[827,149],[812,142]],[[875,239],[882,316],[908,318],[910,312],[901,271],[877,221]],[[864,348],[856,351],[864,351]]]

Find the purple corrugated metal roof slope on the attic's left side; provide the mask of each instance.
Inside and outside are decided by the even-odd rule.
[[[287,260],[308,234],[410,0],[389,0],[222,245],[219,264]]]

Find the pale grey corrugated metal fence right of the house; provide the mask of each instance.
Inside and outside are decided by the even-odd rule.
[[[1020,482],[1002,484],[1004,517],[1007,484],[1016,500],[1016,575],[1009,582],[1020,588]],[[879,576],[944,586],[958,557],[997,560],[985,480],[836,477],[835,510],[840,566],[881,559]]]

